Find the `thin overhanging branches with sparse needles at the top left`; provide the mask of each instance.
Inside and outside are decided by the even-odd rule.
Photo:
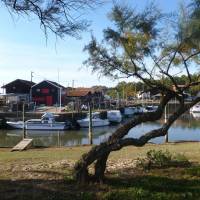
[[[46,36],[51,31],[63,38],[65,35],[79,37],[89,26],[83,19],[84,10],[101,4],[100,0],[1,0],[11,14],[34,16]]]

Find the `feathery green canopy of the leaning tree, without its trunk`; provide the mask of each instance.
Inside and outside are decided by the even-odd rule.
[[[190,14],[172,16],[173,19],[152,4],[142,12],[115,5],[109,15],[115,28],[105,29],[100,43],[92,37],[84,48],[89,53],[84,63],[92,66],[94,72],[112,78],[134,77],[148,87],[167,91],[175,85],[181,95],[198,81],[198,77],[192,78],[192,72],[198,72],[195,64],[200,59],[199,43],[194,42],[199,29],[193,23],[199,17],[196,14],[199,7],[197,1],[194,3],[187,7]],[[174,78],[178,74],[185,75],[185,88],[178,87]],[[168,83],[164,84],[163,79]]]

